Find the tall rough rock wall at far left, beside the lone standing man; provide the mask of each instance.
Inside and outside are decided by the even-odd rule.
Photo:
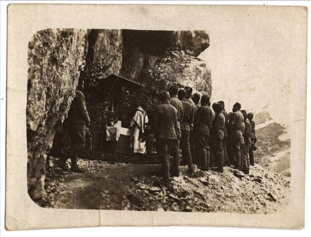
[[[86,30],[38,31],[28,45],[28,192],[45,195],[45,162],[55,130],[67,116],[85,52]]]

